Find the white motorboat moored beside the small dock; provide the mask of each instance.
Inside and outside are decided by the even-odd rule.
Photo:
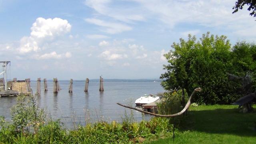
[[[159,100],[159,96],[155,94],[144,94],[144,96],[138,98],[135,100],[136,106],[142,106],[143,104],[149,104],[151,102],[155,102],[156,100]]]

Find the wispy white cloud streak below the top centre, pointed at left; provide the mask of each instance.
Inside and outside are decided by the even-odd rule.
[[[103,20],[99,20],[96,18],[86,18],[85,21],[91,24],[102,26],[104,28],[102,31],[107,32],[109,34],[116,34],[124,31],[132,30],[130,26],[126,26],[124,24],[114,23],[114,22],[105,22]]]

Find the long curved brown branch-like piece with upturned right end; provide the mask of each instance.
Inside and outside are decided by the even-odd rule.
[[[196,89],[194,90],[194,92],[190,95],[190,97],[189,97],[189,99],[188,99],[188,102],[187,102],[187,104],[185,105],[185,107],[183,108],[183,110],[181,110],[180,112],[178,112],[178,113],[176,113],[176,114],[168,114],[168,115],[166,115],[166,114],[154,114],[154,113],[152,113],[152,112],[147,112],[147,111],[140,110],[140,109],[138,109],[138,108],[134,108],[134,107],[131,107],[131,106],[126,106],[126,105],[123,105],[123,104],[120,104],[120,103],[116,103],[116,104],[118,104],[118,105],[120,105],[120,106],[124,106],[124,107],[126,107],[126,108],[130,108],[130,109],[137,110],[137,111],[139,111],[139,112],[143,112],[143,113],[145,113],[145,114],[150,114],[150,115],[153,115],[153,116],[159,116],[159,117],[166,117],[166,118],[169,118],[169,117],[179,116],[179,115],[183,114],[184,112],[186,112],[186,110],[188,109],[188,107],[189,107],[190,104],[191,104],[191,99],[192,99],[192,97],[193,97],[197,92],[200,92],[201,90],[202,90],[201,88],[196,88]]]

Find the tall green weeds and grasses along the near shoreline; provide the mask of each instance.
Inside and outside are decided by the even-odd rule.
[[[64,129],[60,120],[52,120],[44,109],[37,106],[35,96],[17,97],[13,106],[12,122],[0,118],[0,143],[19,144],[132,144],[146,142],[172,134],[173,125],[168,118],[152,118],[135,122],[124,114],[122,123],[98,121],[77,125],[74,130]]]

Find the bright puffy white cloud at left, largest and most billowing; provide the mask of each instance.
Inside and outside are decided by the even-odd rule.
[[[37,18],[30,28],[30,36],[21,38],[18,51],[21,53],[37,52],[43,42],[53,40],[57,36],[70,32],[70,29],[71,25],[67,20],[62,20],[61,18]]]

